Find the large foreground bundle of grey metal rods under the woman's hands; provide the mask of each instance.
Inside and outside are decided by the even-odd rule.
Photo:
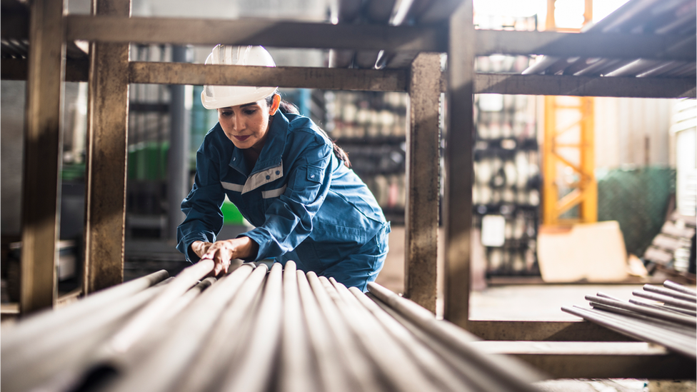
[[[371,283],[203,260],[0,330],[14,391],[536,391],[539,374]],[[203,279],[202,281],[199,281]]]

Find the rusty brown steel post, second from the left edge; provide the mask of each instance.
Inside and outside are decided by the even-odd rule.
[[[130,16],[130,0],[94,0],[92,14]],[[90,46],[84,292],[124,280],[129,44]]]

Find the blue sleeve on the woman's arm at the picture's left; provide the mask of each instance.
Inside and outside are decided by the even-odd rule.
[[[194,186],[181,202],[181,211],[186,214],[176,230],[176,248],[186,255],[186,260],[199,261],[199,256],[191,251],[194,241],[214,242],[223,227],[221,206],[225,199],[220,184],[219,169],[204,154],[204,146],[196,153],[196,177]]]

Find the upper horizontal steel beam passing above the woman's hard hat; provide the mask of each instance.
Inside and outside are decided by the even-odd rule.
[[[269,19],[66,16],[66,39],[150,44],[264,45],[315,49],[446,51],[438,27],[323,24]],[[302,37],[302,39],[298,39]]]

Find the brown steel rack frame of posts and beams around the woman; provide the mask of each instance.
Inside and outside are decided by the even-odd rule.
[[[415,4],[422,4],[423,1]],[[613,59],[697,61],[697,44],[666,51],[689,36],[568,34],[475,30],[472,1],[432,0],[429,21],[415,26],[316,24],[269,20],[130,18],[129,0],[98,0],[93,15],[63,14],[61,1],[31,2],[29,22],[0,24],[0,36],[29,38],[27,60],[0,62],[0,77],[26,77],[24,228],[21,311],[51,306],[56,298],[54,257],[56,200],[61,162],[61,80],[89,81],[89,159],[86,189],[84,292],[121,283],[129,83],[237,84],[407,91],[406,293],[433,310],[436,298],[438,226],[438,102],[448,99],[444,316],[478,336],[496,341],[546,341],[548,350],[518,348],[518,356],[556,377],[693,378],[694,363],[666,351],[625,351],[588,341],[625,338],[585,322],[472,321],[470,292],[473,94],[697,97],[697,79],[600,78],[476,74],[475,56],[544,54]],[[439,16],[433,18],[433,14]],[[6,16],[2,16],[3,19]],[[11,19],[11,16],[8,16]],[[445,22],[445,23],[443,23]],[[301,37],[301,38],[299,38]],[[66,42],[90,41],[90,59],[66,61]],[[407,69],[317,69],[204,66],[129,61],[129,42],[154,44],[264,44],[315,49],[391,49],[408,58]],[[441,72],[446,52],[448,70]],[[418,147],[417,147],[418,146]],[[120,235],[119,235],[120,233]],[[554,341],[554,342],[553,342]],[[558,341],[562,341],[557,345]],[[578,351],[574,343],[584,351]],[[538,343],[538,346],[540,343]],[[589,351],[590,350],[590,351]]]

